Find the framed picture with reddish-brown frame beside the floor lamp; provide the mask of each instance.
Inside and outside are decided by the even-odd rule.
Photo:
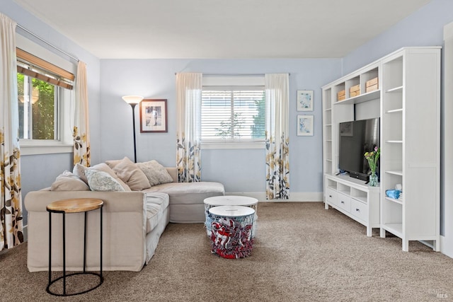
[[[167,100],[140,102],[140,132],[168,132]]]

